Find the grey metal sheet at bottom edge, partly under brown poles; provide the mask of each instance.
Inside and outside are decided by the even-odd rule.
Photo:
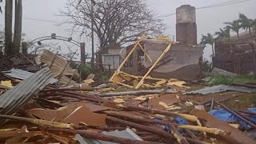
[[[129,138],[134,139],[138,141],[143,141],[142,138],[140,138],[137,134],[135,134],[132,130],[129,128],[126,128],[126,130],[114,130],[110,132],[103,131],[102,134],[111,135],[118,138]],[[99,141],[99,140],[90,140],[87,138],[83,138],[80,134],[76,134],[75,138],[80,142],[81,144],[116,144],[115,142],[105,142],[105,141]]]

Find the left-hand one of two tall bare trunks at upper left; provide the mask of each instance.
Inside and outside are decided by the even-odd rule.
[[[12,20],[13,20],[13,0],[6,0],[5,11],[5,54],[12,52]]]

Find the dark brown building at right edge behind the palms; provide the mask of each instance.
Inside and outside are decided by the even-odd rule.
[[[219,38],[215,41],[214,67],[237,74],[255,72],[256,55],[252,46],[256,48],[255,39],[250,40],[248,33],[240,34],[239,38],[231,37],[230,41],[227,38]]]

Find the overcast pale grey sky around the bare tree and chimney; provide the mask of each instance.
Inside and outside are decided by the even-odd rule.
[[[195,7],[209,6],[211,4],[218,4],[220,2],[228,2],[230,0],[148,0],[150,9],[154,9],[158,15],[172,14],[178,6],[190,4]],[[4,11],[4,3],[0,4]],[[26,33],[26,38],[34,39],[52,33],[60,36],[70,37],[67,29],[69,25],[57,26],[58,22],[62,22],[62,18],[56,16],[58,10],[64,9],[66,0],[23,0],[23,25],[22,32]],[[210,9],[202,9],[196,11],[197,25],[198,25],[198,40],[201,34],[211,33],[222,28],[223,22],[233,21],[238,18],[238,13],[246,14],[249,18],[256,18],[256,0],[237,3],[230,6],[220,6]],[[0,14],[0,29],[4,26],[4,14]],[[40,22],[31,19],[42,19],[54,22]],[[166,23],[166,34],[175,35],[175,14],[163,18]],[[90,39],[78,38],[74,36],[77,41],[86,41],[86,51],[90,50]],[[71,46],[70,44],[68,44]],[[206,58],[209,57],[211,50],[205,50]]]

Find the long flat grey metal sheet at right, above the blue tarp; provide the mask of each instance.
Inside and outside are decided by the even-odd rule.
[[[187,93],[183,94],[215,94],[215,93],[220,93],[224,91],[238,91],[238,92],[243,92],[243,93],[255,93],[255,89],[250,89],[247,87],[242,87],[242,86],[225,86],[225,85],[218,85],[218,86],[211,86],[211,87],[206,87],[202,90],[194,90],[190,91]]]

